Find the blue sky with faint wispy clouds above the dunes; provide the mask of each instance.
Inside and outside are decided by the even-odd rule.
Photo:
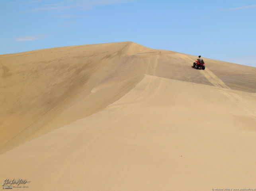
[[[256,67],[255,0],[1,0],[0,54],[133,41]]]

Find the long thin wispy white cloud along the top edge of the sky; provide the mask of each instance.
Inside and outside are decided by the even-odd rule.
[[[65,12],[65,11],[77,11],[77,10],[87,10],[92,6],[109,5],[109,4],[122,4],[129,3],[135,0],[59,0],[55,4],[43,4],[37,8],[25,10],[23,13],[33,13],[33,12]]]

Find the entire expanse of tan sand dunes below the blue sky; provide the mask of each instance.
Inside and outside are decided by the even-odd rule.
[[[0,181],[256,188],[256,68],[196,58],[133,42],[0,55]]]

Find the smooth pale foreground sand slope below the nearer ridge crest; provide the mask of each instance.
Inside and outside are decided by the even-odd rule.
[[[254,94],[146,75],[102,111],[1,155],[0,177],[54,191],[253,187],[255,108]]]

